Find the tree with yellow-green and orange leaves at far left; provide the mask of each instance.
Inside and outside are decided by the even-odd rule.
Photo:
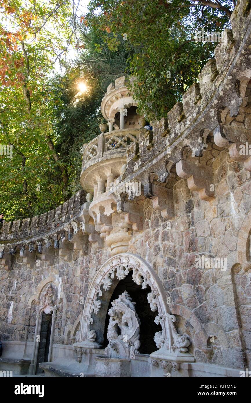
[[[54,145],[56,93],[48,77],[76,42],[76,9],[68,0],[1,0],[0,13],[0,141],[13,148],[13,158],[1,155],[1,207],[7,218],[8,212],[22,218],[45,202],[41,181],[55,186],[50,205],[69,197],[67,167]],[[56,184],[48,183],[49,174]]]

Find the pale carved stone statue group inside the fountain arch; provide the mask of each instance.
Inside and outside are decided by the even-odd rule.
[[[113,358],[133,358],[138,354],[140,320],[127,291],[112,301],[108,311],[110,321],[107,330],[109,341],[105,353]]]

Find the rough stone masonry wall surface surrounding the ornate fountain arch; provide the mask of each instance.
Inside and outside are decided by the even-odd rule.
[[[231,266],[231,254],[250,214],[250,172],[243,162],[231,162],[226,151],[215,159],[214,168],[216,199],[210,204],[189,191],[184,179],[174,185],[174,220],[162,218],[146,199],[144,231],[134,233],[129,252],[156,270],[170,297],[170,312],[177,317],[176,328],[189,338],[189,351],[197,361],[246,368],[247,360],[251,363],[251,274],[238,264],[227,271],[198,268],[195,259],[217,256],[230,260]],[[45,262],[26,268],[18,254],[10,270],[1,266],[2,340],[33,340],[37,299],[33,296],[57,280],[60,292],[57,288],[56,294],[61,299],[54,343],[78,341],[83,301],[94,274],[110,257],[110,249],[89,244],[87,256],[79,257],[74,251],[72,262],[57,255],[58,250],[55,264],[49,268]],[[205,347],[213,347],[211,357],[205,354]]]

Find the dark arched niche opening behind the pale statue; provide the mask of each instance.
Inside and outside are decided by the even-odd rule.
[[[147,285],[145,289],[142,289],[140,285],[133,281],[132,276],[133,271],[131,270],[123,280],[119,281],[112,293],[108,310],[112,307],[111,302],[117,299],[124,291],[127,291],[132,298],[132,302],[135,303],[135,309],[140,320],[139,352],[141,354],[151,354],[156,351],[156,344],[154,342],[155,333],[161,331],[162,328],[160,324],[154,322],[156,312],[151,311],[149,302],[147,301],[147,295],[151,293],[151,288]],[[110,320],[108,310],[104,328],[104,347],[108,345],[107,328]]]

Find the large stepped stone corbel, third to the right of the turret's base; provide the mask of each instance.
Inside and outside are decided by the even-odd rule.
[[[176,164],[176,172],[180,178],[187,179],[190,190],[199,192],[200,199],[208,202],[214,199],[214,192],[210,189],[213,184],[213,170],[210,166],[180,160]]]

